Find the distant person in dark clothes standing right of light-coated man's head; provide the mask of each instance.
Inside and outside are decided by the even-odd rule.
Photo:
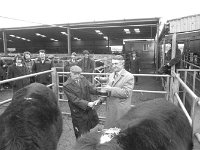
[[[132,74],[139,74],[140,72],[140,59],[135,51],[133,51],[130,59],[130,72]],[[135,84],[137,84],[138,76],[135,76],[134,79],[135,79]]]

